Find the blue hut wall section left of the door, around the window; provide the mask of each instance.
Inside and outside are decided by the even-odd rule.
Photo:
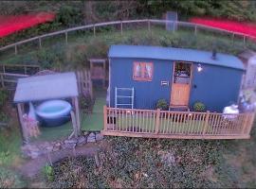
[[[152,81],[137,81],[133,79],[134,61],[153,62]],[[171,60],[111,59],[111,107],[115,106],[115,87],[135,87],[136,109],[155,109],[155,103],[159,98],[164,98],[169,102],[172,75],[173,62]],[[169,81],[169,85],[161,86],[162,80]]]

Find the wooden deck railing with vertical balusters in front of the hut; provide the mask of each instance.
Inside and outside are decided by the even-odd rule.
[[[177,139],[247,139],[253,121],[254,112],[225,114],[104,107],[102,134]]]

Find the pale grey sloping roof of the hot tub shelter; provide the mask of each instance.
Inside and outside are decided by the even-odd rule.
[[[78,96],[75,73],[19,78],[14,102],[28,102]]]

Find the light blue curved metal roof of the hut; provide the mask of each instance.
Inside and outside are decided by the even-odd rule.
[[[108,56],[110,58],[141,58],[155,60],[192,61],[202,64],[205,63],[245,70],[243,62],[235,56],[217,53],[216,59],[212,59],[212,53],[209,51],[201,51],[188,48],[143,45],[112,45],[110,47]]]

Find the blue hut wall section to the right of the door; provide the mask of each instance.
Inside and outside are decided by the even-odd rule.
[[[196,101],[206,104],[210,112],[222,112],[230,102],[237,102],[243,71],[202,64],[203,71],[193,66],[190,106]]]

